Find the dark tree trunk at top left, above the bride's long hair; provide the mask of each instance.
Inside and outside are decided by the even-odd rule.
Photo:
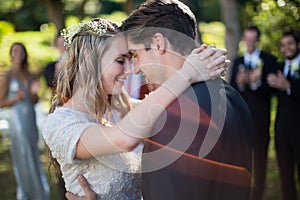
[[[49,18],[59,33],[65,27],[64,4],[61,0],[46,0],[45,3]]]

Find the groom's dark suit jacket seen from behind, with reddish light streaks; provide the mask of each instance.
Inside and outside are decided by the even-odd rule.
[[[249,199],[253,129],[245,102],[228,83],[192,85],[145,142],[144,199]]]

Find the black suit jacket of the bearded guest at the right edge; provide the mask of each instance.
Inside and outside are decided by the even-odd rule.
[[[277,68],[283,72],[284,63],[278,63]],[[295,133],[299,135],[298,123],[300,122],[300,69],[298,69],[295,72],[295,75],[290,77],[288,80],[291,84],[291,94],[288,95],[286,91],[277,91],[278,106],[275,130],[277,133]]]

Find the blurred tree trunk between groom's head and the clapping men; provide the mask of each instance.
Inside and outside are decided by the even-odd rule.
[[[228,51],[228,59],[233,62],[237,56],[241,29],[240,29],[240,9],[241,5],[237,0],[219,0],[221,8],[221,20],[225,24],[226,36],[225,46]],[[231,76],[231,68],[226,75],[226,80]]]

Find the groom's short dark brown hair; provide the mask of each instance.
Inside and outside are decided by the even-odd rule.
[[[123,21],[120,29],[134,43],[151,42],[153,35],[160,32],[181,54],[190,53],[197,39],[195,15],[178,0],[148,0]]]

